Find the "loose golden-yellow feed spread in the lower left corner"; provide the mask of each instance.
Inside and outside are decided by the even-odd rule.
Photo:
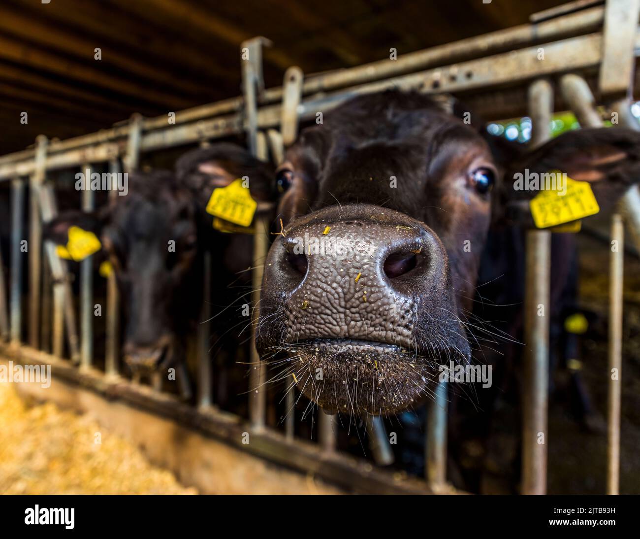
[[[29,406],[10,383],[0,410],[0,494],[198,494],[88,415]]]

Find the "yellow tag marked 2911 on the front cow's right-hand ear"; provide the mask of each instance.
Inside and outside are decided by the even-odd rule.
[[[553,171],[559,174],[558,171]],[[540,191],[529,201],[531,215],[539,229],[569,223],[600,211],[589,182],[579,182],[566,178],[566,192],[563,186]],[[561,182],[559,182],[561,183]]]

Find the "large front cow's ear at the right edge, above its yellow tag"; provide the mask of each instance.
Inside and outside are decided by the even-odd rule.
[[[538,191],[516,189],[520,175],[560,171],[573,180],[589,182],[601,210],[611,208],[640,181],[640,133],[632,129],[568,131],[529,152],[511,147],[510,153],[494,152],[504,168],[495,202],[502,205],[503,215],[521,222],[527,221],[523,216],[529,214],[528,201]]]

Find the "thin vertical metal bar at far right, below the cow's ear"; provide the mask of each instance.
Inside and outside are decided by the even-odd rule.
[[[611,217],[609,264],[609,393],[607,399],[607,494],[620,494],[620,404],[622,384],[622,311],[625,228]]]

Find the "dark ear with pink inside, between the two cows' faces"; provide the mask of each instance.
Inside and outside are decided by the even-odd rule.
[[[238,178],[248,179],[251,196],[260,202],[273,197],[273,166],[253,157],[241,146],[220,143],[187,152],[175,163],[180,182],[198,193],[206,205],[214,189],[227,187]]]

